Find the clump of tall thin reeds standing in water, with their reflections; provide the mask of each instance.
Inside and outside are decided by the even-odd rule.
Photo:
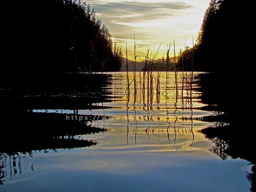
[[[187,39],[186,39],[187,41]],[[186,49],[186,41],[185,41],[185,46],[184,50]],[[161,44],[160,44],[161,46]],[[150,50],[150,46],[147,48],[146,55],[144,56],[143,60],[143,67],[137,71],[136,68],[136,62],[137,58],[142,57],[136,54],[136,41],[135,41],[135,35],[134,35],[134,61],[132,58],[132,64],[133,64],[133,79],[132,82],[134,84],[134,87],[132,90],[133,92],[130,92],[130,94],[134,95],[134,101],[133,101],[133,110],[135,112],[134,114],[134,131],[133,134],[135,134],[135,145],[137,143],[136,135],[137,135],[137,117],[136,117],[136,108],[140,109],[140,104],[142,104],[142,109],[144,111],[147,111],[148,114],[150,112],[154,112],[154,110],[161,110],[161,95],[164,96],[165,98],[165,110],[166,110],[166,115],[165,119],[167,122],[167,140],[168,143],[171,144],[171,136],[169,134],[170,128],[173,128],[174,131],[174,139],[173,139],[173,147],[176,142],[176,134],[177,132],[180,134],[180,137],[185,140],[185,133],[188,133],[191,135],[191,138],[193,138],[192,143],[194,141],[194,133],[193,133],[193,121],[192,121],[192,116],[193,116],[193,110],[192,110],[192,98],[193,98],[193,72],[192,71],[187,71],[187,69],[193,69],[193,61],[191,61],[191,66],[185,66],[184,65],[184,55],[180,53],[180,59],[178,62],[176,61],[176,52],[175,52],[175,40],[173,40],[173,48],[174,48],[174,63],[169,59],[170,57],[170,49],[171,49],[171,44],[167,45],[167,51],[166,51],[166,65],[165,65],[165,82],[161,82],[161,71],[159,70],[159,62],[156,63],[156,58],[158,58],[160,46],[157,50],[156,53],[152,53],[152,50]],[[126,45],[127,49],[127,45]],[[163,53],[163,57],[165,54],[165,49]],[[126,51],[126,58],[128,58],[128,54]],[[182,60],[181,60],[182,58]],[[140,58],[141,59],[141,58]],[[142,59],[141,59],[142,60]],[[157,59],[159,61],[159,58]],[[164,60],[162,60],[162,64],[164,63]],[[127,63],[128,65],[128,63]],[[173,65],[174,67],[174,85],[173,89],[170,89],[169,83],[172,82],[172,79],[169,80],[169,75],[168,71],[170,66]],[[179,71],[182,71],[180,74]],[[126,76],[128,77],[128,68],[126,68],[127,74]],[[185,72],[186,71],[186,72]],[[129,78],[129,77],[128,77]],[[129,82],[127,78],[127,84],[131,84],[132,82]],[[129,82],[129,83],[128,83]],[[128,87],[128,86],[127,86]],[[172,85],[171,85],[172,87]],[[128,88],[127,88],[128,89]],[[163,90],[163,91],[161,91]],[[180,92],[181,91],[181,92]],[[173,97],[170,96],[170,92],[173,92]],[[128,97],[128,96],[127,96]],[[174,101],[174,122],[171,124],[170,122],[170,113],[169,113],[169,101],[170,99],[173,99]],[[179,101],[181,100],[181,106],[179,105]],[[129,108],[129,103],[127,102],[127,116],[128,116],[128,108]],[[180,111],[181,110],[181,111]],[[190,115],[189,117],[184,116],[184,111],[189,110]],[[181,116],[180,116],[181,115]],[[142,118],[139,117],[140,120]],[[187,121],[189,119],[190,122],[190,128],[183,129],[184,128],[184,121]],[[144,121],[150,121],[149,116],[143,116]],[[181,120],[181,121],[180,121]],[[128,133],[129,133],[129,128],[127,124],[127,144],[128,144]],[[180,132],[181,130],[181,132]],[[146,130],[144,130],[148,137],[150,137],[150,134],[155,135],[154,129],[151,129],[150,127]],[[164,130],[162,130],[164,132]],[[181,135],[183,134],[183,136]],[[158,138],[158,137],[157,137]],[[185,141],[186,142],[186,141]]]

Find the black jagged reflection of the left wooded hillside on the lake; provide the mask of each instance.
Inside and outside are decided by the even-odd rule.
[[[22,173],[20,158],[33,157],[40,151],[57,152],[99,143],[96,138],[86,138],[86,135],[107,131],[93,125],[92,120],[108,117],[80,115],[82,119],[76,120],[69,115],[77,115],[81,108],[97,110],[102,108],[102,102],[108,102],[111,96],[102,94],[102,87],[111,84],[107,76],[110,75],[56,74],[39,78],[36,87],[31,82],[17,82],[1,92],[2,101],[12,100],[11,103],[3,102],[0,111],[1,136],[4,135],[0,148],[1,185],[8,174],[12,180],[17,173]],[[31,170],[35,171],[33,164]]]

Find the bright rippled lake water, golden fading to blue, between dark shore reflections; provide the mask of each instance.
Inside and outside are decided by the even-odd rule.
[[[197,75],[191,86],[180,73],[177,92],[174,73],[162,72],[156,94],[156,73],[148,94],[138,73],[134,94],[129,73],[128,94],[126,73],[108,73],[103,92],[92,94],[104,94],[102,102],[28,109],[22,127],[32,136],[13,129],[2,143],[0,191],[250,191],[252,163],[202,131],[228,122],[202,103]]]

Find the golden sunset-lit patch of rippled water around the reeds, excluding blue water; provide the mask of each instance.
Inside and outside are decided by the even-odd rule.
[[[111,130],[104,136],[98,135],[98,147],[127,148],[127,145],[138,147],[140,144],[147,150],[170,150],[170,146],[172,150],[192,150],[196,139],[205,141],[195,130],[211,125],[201,120],[203,116],[212,115],[200,109],[204,104],[198,98],[197,74],[152,72],[143,75],[137,72],[135,91],[133,72],[128,73],[129,86],[126,72],[111,73],[106,80],[108,86],[103,88],[103,92],[111,96],[111,102],[95,103],[98,108],[79,109],[76,114],[112,117],[92,121],[92,125]],[[66,110],[64,113],[73,112]]]

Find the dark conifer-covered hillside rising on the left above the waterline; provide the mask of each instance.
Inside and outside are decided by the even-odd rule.
[[[116,44],[113,48],[108,28],[89,4],[81,0],[3,4],[10,9],[2,24],[6,61],[1,71],[6,78],[120,69],[122,50]]]

